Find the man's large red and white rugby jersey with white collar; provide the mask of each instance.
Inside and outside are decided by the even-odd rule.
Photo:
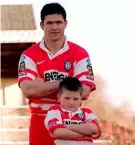
[[[94,75],[90,58],[85,49],[66,41],[62,49],[53,55],[44,45],[44,40],[28,48],[20,57],[18,83],[34,80],[37,76],[45,81],[62,80],[67,76],[76,76],[83,84],[95,90]],[[51,96],[50,96],[51,97]],[[56,100],[56,96],[51,99]],[[49,99],[29,100],[33,113],[45,113],[57,101]]]

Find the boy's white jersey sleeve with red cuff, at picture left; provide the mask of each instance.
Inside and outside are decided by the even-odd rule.
[[[65,128],[62,123],[60,111],[52,107],[52,109],[47,112],[44,125],[49,133],[53,133],[57,128]]]

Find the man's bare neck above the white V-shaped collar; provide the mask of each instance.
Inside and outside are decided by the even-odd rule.
[[[64,45],[65,37],[62,37],[58,41],[49,41],[44,38],[46,48],[52,53],[56,54]]]

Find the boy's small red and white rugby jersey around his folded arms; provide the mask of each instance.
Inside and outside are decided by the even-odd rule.
[[[78,108],[77,111],[67,111],[61,108],[60,105],[52,106],[47,112],[44,124],[48,129],[49,133],[52,133],[57,128],[64,128],[67,124],[83,124],[87,120],[91,120],[92,123],[96,124],[99,133],[87,138],[78,138],[74,140],[55,140],[56,145],[92,145],[93,139],[97,139],[101,135],[101,131],[96,119],[96,115],[86,108]],[[78,144],[77,144],[78,143]]]

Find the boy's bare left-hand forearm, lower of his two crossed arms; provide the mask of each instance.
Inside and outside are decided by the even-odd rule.
[[[76,139],[84,137],[81,133],[68,130],[67,128],[56,128],[51,132],[51,136],[59,139]]]

